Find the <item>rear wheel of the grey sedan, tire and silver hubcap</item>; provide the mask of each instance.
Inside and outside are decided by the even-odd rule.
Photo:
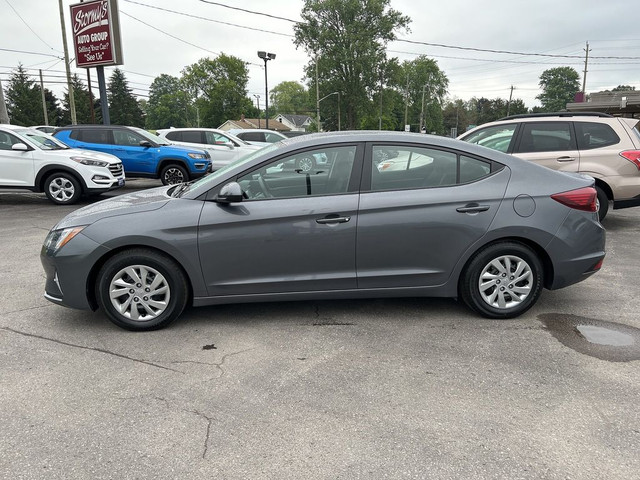
[[[516,268],[528,276],[522,278]],[[543,276],[542,263],[533,250],[521,243],[499,242],[472,257],[460,278],[459,292],[464,303],[484,317],[514,318],[536,303]]]

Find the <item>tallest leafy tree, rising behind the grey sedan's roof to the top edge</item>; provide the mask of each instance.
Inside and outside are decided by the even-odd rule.
[[[342,123],[347,129],[360,126],[362,117],[370,113],[386,45],[410,22],[389,3],[305,0],[303,21],[294,27],[296,46],[311,57],[306,69],[310,90],[315,91],[317,73],[320,97],[341,92]]]

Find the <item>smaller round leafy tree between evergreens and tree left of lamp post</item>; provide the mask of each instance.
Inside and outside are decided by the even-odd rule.
[[[152,130],[196,125],[193,102],[180,79],[171,75],[162,74],[151,83],[146,113],[147,128]]]

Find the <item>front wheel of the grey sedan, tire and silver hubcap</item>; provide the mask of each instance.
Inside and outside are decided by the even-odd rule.
[[[112,290],[120,295],[112,298]],[[119,327],[158,330],[180,316],[189,300],[189,286],[180,266],[169,257],[132,249],[114,255],[102,266],[96,299]]]

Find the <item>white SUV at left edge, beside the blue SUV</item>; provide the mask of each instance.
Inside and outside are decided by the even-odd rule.
[[[122,162],[106,153],[69,148],[39,130],[0,125],[0,188],[44,192],[58,205],[124,185]]]

